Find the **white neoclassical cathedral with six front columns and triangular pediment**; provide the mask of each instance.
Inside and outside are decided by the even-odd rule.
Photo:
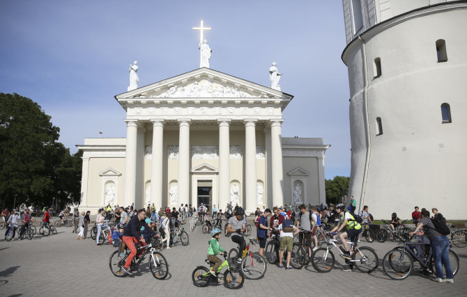
[[[132,67],[131,75],[137,79]],[[208,67],[128,90],[115,97],[126,111],[126,138],[78,145],[80,210],[107,203],[224,209],[233,202],[254,212],[326,203],[330,145],[282,137],[282,112],[293,96]]]

